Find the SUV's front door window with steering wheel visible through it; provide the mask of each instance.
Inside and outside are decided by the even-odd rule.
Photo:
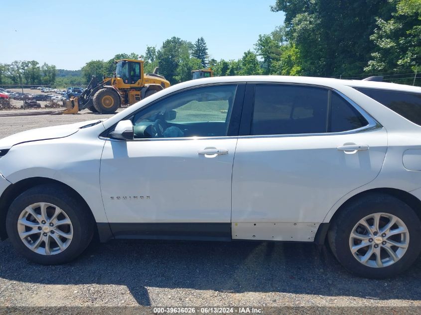
[[[135,138],[226,136],[237,85],[181,92],[135,115]]]

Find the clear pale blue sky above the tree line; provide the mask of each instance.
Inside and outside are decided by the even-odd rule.
[[[178,36],[203,36],[211,58],[238,59],[283,23],[275,0],[2,1],[0,63],[37,60],[80,69],[117,53],[144,54]],[[120,4],[119,4],[120,3]]]

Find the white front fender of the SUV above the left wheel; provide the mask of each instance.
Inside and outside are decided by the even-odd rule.
[[[36,177],[61,182],[85,200],[96,222],[108,222],[99,177],[104,143],[70,136],[65,143],[52,139],[15,145],[1,158],[0,173],[12,184]]]

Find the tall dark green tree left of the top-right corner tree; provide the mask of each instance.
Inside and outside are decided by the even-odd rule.
[[[385,0],[277,0],[274,11],[285,12],[286,37],[295,44],[306,75],[361,73],[374,43],[375,16],[389,17]]]

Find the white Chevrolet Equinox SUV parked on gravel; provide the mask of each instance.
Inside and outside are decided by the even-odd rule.
[[[41,264],[111,238],[328,241],[348,270],[421,251],[421,89],[216,77],[0,140],[0,233]]]

